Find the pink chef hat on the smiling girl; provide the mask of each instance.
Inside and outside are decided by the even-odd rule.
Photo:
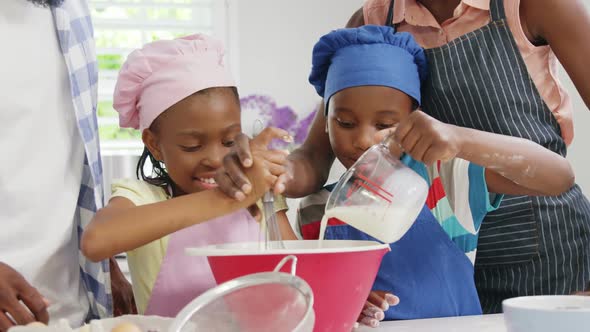
[[[195,34],[149,43],[121,67],[113,107],[119,125],[144,130],[170,106],[212,87],[235,86],[223,63],[223,45]]]

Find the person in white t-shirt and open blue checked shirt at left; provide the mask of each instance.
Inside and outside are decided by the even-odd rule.
[[[79,252],[79,235],[103,206],[88,4],[3,0],[0,37],[0,331],[111,316],[109,260]]]

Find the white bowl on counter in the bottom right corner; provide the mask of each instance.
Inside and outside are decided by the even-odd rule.
[[[502,302],[507,332],[588,332],[590,297],[524,296]]]

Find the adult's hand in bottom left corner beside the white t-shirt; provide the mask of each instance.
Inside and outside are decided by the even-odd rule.
[[[47,302],[20,273],[0,263],[0,332],[14,325],[49,322]]]

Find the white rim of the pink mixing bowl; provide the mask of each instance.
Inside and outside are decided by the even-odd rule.
[[[187,248],[189,256],[245,256],[245,255],[284,255],[284,254],[323,254],[359,252],[389,248],[388,244],[375,241],[318,240],[283,241],[285,249],[264,249],[263,243],[242,242],[211,245],[200,248]]]

